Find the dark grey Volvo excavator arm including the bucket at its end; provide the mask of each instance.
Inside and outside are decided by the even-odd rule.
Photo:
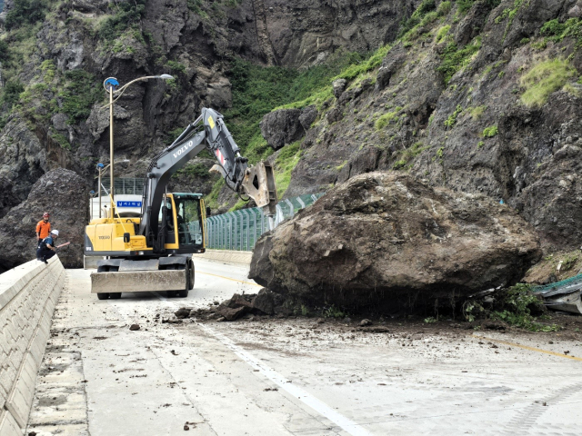
[[[249,167],[248,160],[240,155],[238,145],[228,132],[223,115],[203,108],[196,121],[189,124],[173,144],[157,154],[147,168],[139,234],[146,236],[147,245],[155,250],[160,246],[157,216],[166,185],[172,174],[205,149],[216,157],[211,171],[220,173],[230,189],[252,198],[257,207],[268,206],[268,213],[275,213],[276,189],[271,166],[258,163]]]

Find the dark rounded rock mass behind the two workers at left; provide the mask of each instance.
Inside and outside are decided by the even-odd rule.
[[[0,220],[0,267],[7,270],[35,259],[35,226],[44,212],[51,214],[52,228],[60,233],[56,243],[71,243],[58,253],[61,262],[67,268],[83,267],[88,201],[85,181],[73,171],[58,168],[45,173],[25,202]]]

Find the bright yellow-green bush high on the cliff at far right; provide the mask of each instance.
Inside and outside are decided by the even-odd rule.
[[[563,87],[568,79],[577,76],[577,71],[567,61],[548,59],[534,65],[524,74],[519,83],[526,88],[521,102],[528,107],[543,106],[547,97]]]

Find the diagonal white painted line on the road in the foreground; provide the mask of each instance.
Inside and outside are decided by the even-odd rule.
[[[317,413],[325,416],[329,421],[335,422],[337,426],[342,428],[347,433],[353,436],[372,436],[372,433],[364,429],[360,424],[350,420],[349,418],[346,418],[341,413],[334,411],[325,402],[317,400],[316,397],[307,391],[304,391],[300,387],[294,385],[292,382],[286,380],[286,378],[284,378],[281,374],[266,366],[264,362],[261,362],[249,352],[246,352],[246,350],[235,345],[235,343],[227,338],[224,334],[216,332],[205,324],[201,324],[199,322],[196,322],[196,325],[198,325],[207,333],[212,334],[218,341],[225,344],[226,347],[228,347],[232,352],[235,352],[235,354],[243,361],[265,375],[267,379],[273,381],[281,389],[303,401],[307,406],[312,408],[314,411],[317,411]]]

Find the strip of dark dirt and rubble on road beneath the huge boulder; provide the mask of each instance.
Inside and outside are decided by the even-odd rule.
[[[238,298],[238,297],[236,297]],[[302,315],[260,315],[247,312],[233,322],[217,317],[218,304],[207,308],[181,308],[176,312],[164,310],[156,313],[152,322],[170,324],[177,328],[188,328],[193,322],[222,324],[224,329],[235,331],[239,344],[258,349],[278,349],[286,352],[302,352],[327,348],[337,343],[348,345],[399,342],[403,347],[426,342],[426,352],[451,357],[464,342],[477,342],[481,346],[496,348],[495,342],[485,341],[489,334],[523,338],[536,342],[540,348],[551,348],[554,352],[568,356],[582,356],[582,350],[559,349],[560,342],[582,340],[582,316],[566,312],[549,312],[537,318],[539,325],[557,326],[549,332],[531,332],[512,326],[507,322],[484,319],[475,322],[453,318],[425,317],[419,315],[395,316],[344,316],[341,318]],[[187,312],[187,316],[184,316]],[[221,327],[222,328],[222,327]],[[504,333],[504,334],[498,334]],[[266,340],[268,338],[268,340]],[[581,342],[582,343],[582,342]],[[456,349],[451,347],[457,347]],[[505,347],[507,348],[507,346]],[[509,347],[510,348],[510,347]]]

